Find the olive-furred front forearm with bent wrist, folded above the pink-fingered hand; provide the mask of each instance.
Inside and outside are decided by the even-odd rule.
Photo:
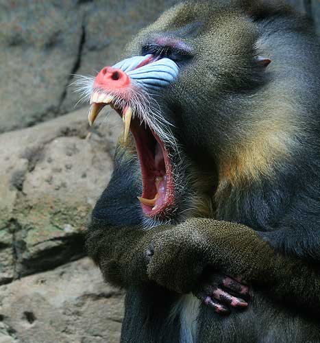
[[[319,267],[281,255],[247,226],[193,218],[152,240],[148,275],[176,292],[190,292],[212,267],[240,277],[276,300],[305,309],[320,307]]]

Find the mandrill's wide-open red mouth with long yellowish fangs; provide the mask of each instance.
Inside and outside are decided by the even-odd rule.
[[[110,104],[119,113],[124,123],[123,141],[126,143],[130,131],[136,144],[143,181],[143,193],[138,196],[138,200],[143,213],[148,217],[164,217],[174,203],[169,153],[156,132],[147,123],[141,122],[138,116],[133,116],[130,107],[117,108],[112,100],[110,95],[93,93],[90,99],[89,123],[93,124],[106,104]]]

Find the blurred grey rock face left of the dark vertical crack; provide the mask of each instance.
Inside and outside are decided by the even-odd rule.
[[[1,1],[0,132],[55,117],[78,60],[76,1]]]

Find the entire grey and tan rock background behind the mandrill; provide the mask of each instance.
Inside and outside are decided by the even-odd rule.
[[[0,0],[0,343],[119,342],[123,292],[82,233],[122,124],[101,116],[86,139],[88,105],[69,84],[177,2]],[[289,2],[320,32],[320,0]]]

